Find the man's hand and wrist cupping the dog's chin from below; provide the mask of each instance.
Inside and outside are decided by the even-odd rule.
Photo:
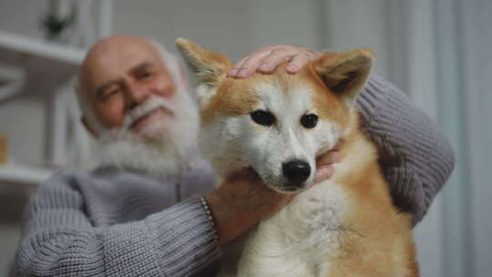
[[[333,163],[338,161],[338,148],[318,157],[314,183],[331,178],[334,174]],[[268,188],[260,176],[250,168],[231,174],[217,190],[206,197],[213,214],[219,244],[224,245],[232,241],[262,219],[271,217],[295,195],[279,193]]]

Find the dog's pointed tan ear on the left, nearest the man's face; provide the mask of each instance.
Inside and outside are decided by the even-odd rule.
[[[232,67],[231,61],[220,54],[213,53],[203,47],[179,37],[176,40],[181,56],[201,84],[207,87],[216,87],[221,77],[226,77]]]

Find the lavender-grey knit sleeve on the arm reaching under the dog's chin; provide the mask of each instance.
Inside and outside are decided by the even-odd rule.
[[[199,199],[140,221],[95,227],[76,188],[70,175],[57,175],[30,201],[16,254],[18,275],[190,276],[219,259]]]

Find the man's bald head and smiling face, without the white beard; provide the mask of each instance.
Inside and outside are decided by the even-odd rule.
[[[173,117],[167,108],[149,108],[158,98],[172,101],[177,89],[159,49],[145,39],[114,36],[99,42],[82,65],[80,81],[88,105],[106,129],[140,133]]]

